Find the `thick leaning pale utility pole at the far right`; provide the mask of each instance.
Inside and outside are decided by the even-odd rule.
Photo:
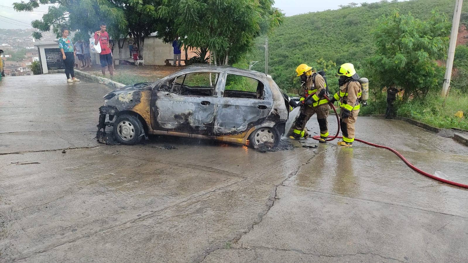
[[[456,0],[455,11],[453,11],[452,32],[450,33],[450,45],[448,46],[444,84],[442,85],[442,97],[447,95],[448,88],[450,87],[450,79],[452,78],[453,57],[455,56],[455,48],[457,46],[458,27],[460,25],[462,5],[463,0]]]

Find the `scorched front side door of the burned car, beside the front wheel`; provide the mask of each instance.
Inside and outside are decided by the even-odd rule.
[[[213,135],[219,72],[181,73],[156,87],[154,130]]]

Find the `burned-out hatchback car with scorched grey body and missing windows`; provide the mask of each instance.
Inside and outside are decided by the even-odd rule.
[[[188,66],[103,98],[98,132],[111,126],[124,145],[154,134],[276,146],[289,108],[271,76],[211,65]]]

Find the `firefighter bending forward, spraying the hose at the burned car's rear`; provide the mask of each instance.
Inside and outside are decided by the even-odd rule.
[[[307,138],[307,121],[317,113],[317,121],[320,127],[319,142],[325,143],[329,135],[328,121],[330,106],[327,99],[323,96],[327,91],[327,85],[322,75],[312,72],[312,67],[301,64],[296,68],[297,77],[300,77],[302,83],[298,103],[300,108],[299,117],[296,118],[294,125],[289,131],[289,138],[299,139]]]

